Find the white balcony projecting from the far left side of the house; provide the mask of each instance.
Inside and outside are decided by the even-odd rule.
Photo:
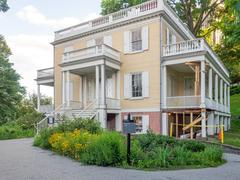
[[[36,81],[39,85],[54,86],[54,68],[38,70]]]

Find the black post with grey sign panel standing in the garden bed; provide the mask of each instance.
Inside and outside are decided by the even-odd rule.
[[[131,120],[130,114],[128,114],[127,120],[123,123],[123,132],[127,134],[127,163],[131,163],[131,133],[136,132],[136,124]]]

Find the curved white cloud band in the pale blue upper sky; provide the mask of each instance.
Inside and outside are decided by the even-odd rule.
[[[63,28],[78,24],[82,21],[87,21],[99,17],[97,13],[90,13],[84,19],[76,17],[63,17],[61,19],[54,19],[46,17],[36,7],[27,5],[16,13],[17,17],[35,25],[46,25],[52,28]]]

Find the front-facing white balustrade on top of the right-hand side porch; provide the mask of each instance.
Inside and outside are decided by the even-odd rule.
[[[204,50],[204,39],[194,39],[182,41],[176,44],[168,44],[163,46],[163,56],[178,55]]]

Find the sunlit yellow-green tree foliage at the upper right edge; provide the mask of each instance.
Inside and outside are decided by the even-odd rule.
[[[223,34],[215,51],[230,71],[232,83],[240,82],[240,1],[225,0],[224,16],[218,23]]]

